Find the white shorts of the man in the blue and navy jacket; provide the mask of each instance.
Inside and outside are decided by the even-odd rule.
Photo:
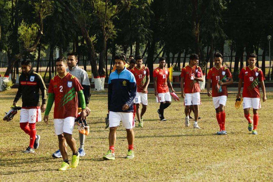
[[[109,112],[109,127],[119,126],[120,121],[126,129],[132,129],[135,125],[133,112]]]

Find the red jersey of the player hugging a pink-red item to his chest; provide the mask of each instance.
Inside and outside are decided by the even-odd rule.
[[[197,80],[191,80],[191,78],[194,78],[194,76],[197,75],[198,71],[201,73],[201,77],[203,77],[201,67],[199,66],[190,67],[188,65],[182,68],[180,77],[184,78],[185,94],[200,92],[199,82]]]

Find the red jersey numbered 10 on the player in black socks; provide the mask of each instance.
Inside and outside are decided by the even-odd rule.
[[[157,77],[156,90],[157,93],[167,93],[169,92],[169,87],[167,84],[167,76],[169,74],[169,69],[163,68],[162,70],[157,67],[153,72],[153,77]]]

